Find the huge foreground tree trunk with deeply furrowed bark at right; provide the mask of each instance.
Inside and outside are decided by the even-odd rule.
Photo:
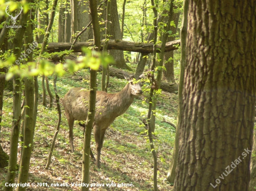
[[[249,189],[255,10],[256,0],[189,1],[175,191]]]

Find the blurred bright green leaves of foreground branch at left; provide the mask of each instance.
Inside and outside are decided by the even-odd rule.
[[[93,70],[98,70],[100,64],[106,67],[108,64],[113,63],[113,58],[107,54],[101,54],[100,52],[91,51],[88,48],[83,48],[86,56],[79,57],[77,59],[78,63],[74,60],[67,60],[65,64],[56,64],[47,61],[46,59],[41,59],[39,64],[35,62],[28,62],[27,64],[13,65],[15,63],[15,56],[7,57],[5,61],[0,59],[0,68],[8,67],[9,70],[6,75],[6,79],[11,79],[14,75],[19,75],[23,77],[32,77],[38,75],[50,76],[56,73],[58,76],[63,76],[65,70],[73,73],[75,71],[81,70],[82,68],[90,67]],[[64,51],[68,52],[68,51]],[[68,52],[69,53],[69,52]],[[61,52],[63,54],[63,52]],[[93,56],[92,56],[93,54]],[[52,56],[52,55],[50,55]],[[49,57],[49,54],[43,55],[44,58]],[[37,66],[37,67],[36,67]]]

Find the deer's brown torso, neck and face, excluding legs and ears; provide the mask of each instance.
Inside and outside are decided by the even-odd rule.
[[[141,94],[141,84],[128,83],[119,93],[96,92],[94,124],[107,128],[116,117],[122,115],[134,101],[136,94]],[[74,120],[85,121],[88,115],[89,91],[72,88],[65,95],[62,103],[66,114]]]

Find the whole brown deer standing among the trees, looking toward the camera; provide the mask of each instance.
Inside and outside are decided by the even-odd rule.
[[[141,95],[141,82],[135,83],[134,76],[124,73],[125,79],[129,82],[119,93],[109,94],[104,91],[97,91],[94,116],[94,140],[96,143],[97,160],[96,166],[100,167],[100,155],[106,129],[122,115],[134,101],[136,95]],[[141,79],[143,74],[139,77]],[[64,96],[62,104],[65,108],[69,126],[69,141],[71,151],[74,152],[73,127],[74,120],[86,121],[88,113],[89,91],[83,88],[72,88]],[[81,124],[80,124],[81,125]],[[91,157],[94,158],[92,152]]]

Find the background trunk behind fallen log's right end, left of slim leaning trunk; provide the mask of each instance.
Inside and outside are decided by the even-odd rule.
[[[174,21],[174,24],[175,24],[175,26],[171,26],[171,29],[170,29],[172,31],[172,34],[175,34],[176,31],[177,31],[179,18],[180,18],[180,12],[172,14],[172,20]],[[170,42],[170,41],[173,41],[173,40],[175,40],[175,37],[168,37],[167,42]],[[167,82],[175,83],[173,55],[174,55],[173,51],[166,52],[164,54],[164,60],[167,61],[167,62],[164,64],[164,67],[166,68],[166,71],[163,70],[162,80],[166,80]],[[169,60],[170,58],[171,58],[171,60]]]

